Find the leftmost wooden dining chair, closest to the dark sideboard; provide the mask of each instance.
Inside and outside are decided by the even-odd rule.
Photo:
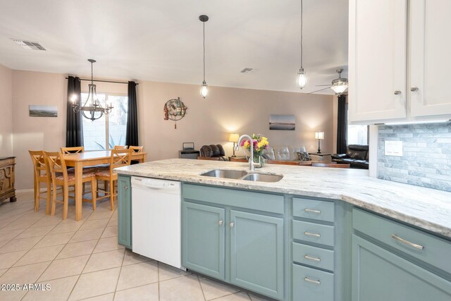
[[[28,151],[33,162],[33,185],[35,188],[35,211],[39,210],[39,202],[43,193],[47,194],[45,214],[50,214],[51,202],[51,173],[44,159],[43,151]],[[41,192],[41,183],[46,185],[46,190]]]

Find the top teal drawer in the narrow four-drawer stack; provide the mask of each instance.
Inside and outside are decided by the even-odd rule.
[[[333,222],[335,220],[335,203],[294,197],[293,216]]]

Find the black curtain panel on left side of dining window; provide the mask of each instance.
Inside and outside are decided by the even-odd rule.
[[[75,113],[72,109],[70,99],[73,95],[77,96],[77,102],[81,105],[82,95],[80,87],[80,78],[68,77],[68,109],[66,118],[66,147],[82,147],[83,146],[83,123],[82,113]]]

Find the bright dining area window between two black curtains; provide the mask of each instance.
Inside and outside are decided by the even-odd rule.
[[[110,102],[114,108],[111,113],[104,114],[95,121],[82,118],[85,150],[113,149],[115,145],[125,145],[128,97],[101,93],[97,97],[101,104]],[[82,93],[82,100],[86,98],[87,93]]]

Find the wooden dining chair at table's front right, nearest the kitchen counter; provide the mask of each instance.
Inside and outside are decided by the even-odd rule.
[[[118,180],[118,174],[113,173],[113,168],[128,166],[132,161],[132,149],[111,149],[110,166],[101,171],[97,171],[97,180],[104,180],[104,182],[109,182],[109,190],[103,190],[104,195],[102,197],[97,197],[97,199],[110,198],[111,210],[114,210],[114,199],[116,197],[116,188],[114,182]]]

